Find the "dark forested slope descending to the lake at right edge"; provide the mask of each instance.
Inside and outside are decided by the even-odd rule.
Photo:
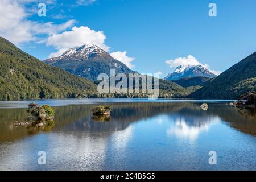
[[[237,100],[249,91],[256,91],[256,52],[209,80],[191,97]]]

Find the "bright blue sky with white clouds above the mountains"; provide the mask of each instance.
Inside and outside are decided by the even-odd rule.
[[[46,3],[46,17],[37,14],[39,2]],[[208,15],[210,2],[217,17]],[[7,5],[13,14],[4,12]],[[253,0],[3,0],[0,8],[0,22],[6,22],[0,36],[40,60],[92,42],[138,72],[164,77],[179,61],[225,71],[256,51]]]

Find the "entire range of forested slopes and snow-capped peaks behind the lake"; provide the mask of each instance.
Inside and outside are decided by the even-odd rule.
[[[0,38],[0,100],[147,97],[142,93],[99,94],[94,83],[98,74],[109,74],[111,68],[115,73],[137,72],[93,44],[68,49],[45,62],[50,65]],[[178,67],[166,79],[159,79],[160,98],[237,99],[256,91],[256,52],[219,76],[201,65],[188,65]]]

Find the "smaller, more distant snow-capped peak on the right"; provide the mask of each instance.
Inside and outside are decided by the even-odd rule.
[[[201,65],[180,65],[179,67],[176,68],[176,70],[173,73],[169,73],[166,77],[164,77],[164,79],[179,80],[185,77],[197,77],[197,76],[213,78],[213,77],[216,77],[217,75],[210,72],[208,69],[204,68]]]

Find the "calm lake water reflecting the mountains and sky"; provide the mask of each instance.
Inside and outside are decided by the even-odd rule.
[[[256,170],[256,111],[229,101],[44,100],[54,126],[16,127],[30,102],[0,102],[0,170]],[[111,118],[92,118],[97,105]]]

